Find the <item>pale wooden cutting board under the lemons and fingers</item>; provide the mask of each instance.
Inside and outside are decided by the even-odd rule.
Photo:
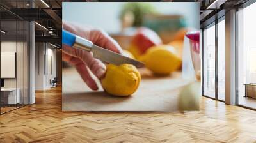
[[[174,72],[167,77],[156,77],[147,69],[141,69],[141,83],[136,93],[128,97],[116,97],[92,91],[74,68],[63,68],[63,111],[164,111],[177,110],[180,89],[189,83]]]

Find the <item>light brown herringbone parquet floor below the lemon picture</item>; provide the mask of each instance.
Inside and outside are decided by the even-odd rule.
[[[0,142],[256,142],[256,112],[200,100],[198,112],[61,112],[61,88],[0,116]]]

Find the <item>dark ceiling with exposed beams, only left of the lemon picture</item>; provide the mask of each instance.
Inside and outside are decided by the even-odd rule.
[[[19,39],[27,30],[24,29],[23,22],[33,20],[37,22],[36,41],[61,45],[61,6],[61,0],[1,0],[1,29],[7,32],[1,33],[1,38],[16,40],[17,36]]]

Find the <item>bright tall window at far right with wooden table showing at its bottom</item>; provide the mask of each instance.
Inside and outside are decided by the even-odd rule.
[[[256,109],[256,3],[237,11],[237,103]]]

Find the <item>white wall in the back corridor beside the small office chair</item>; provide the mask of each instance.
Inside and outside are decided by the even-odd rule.
[[[56,49],[48,43],[36,43],[35,47],[35,90],[49,89],[50,79],[56,77]]]

